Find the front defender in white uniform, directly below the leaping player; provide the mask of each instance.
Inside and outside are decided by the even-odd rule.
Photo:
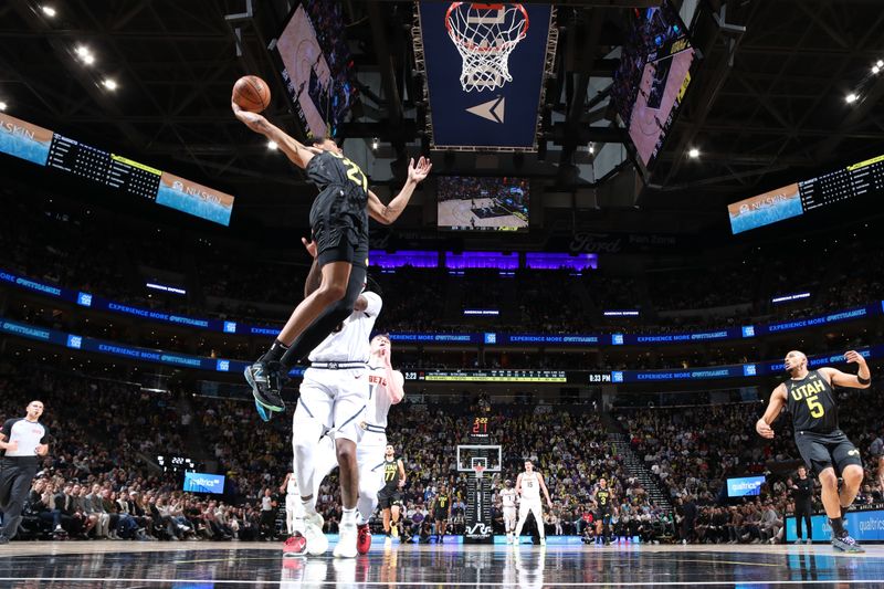
[[[314,255],[314,264],[304,286],[305,295],[318,288],[322,274],[316,264],[316,245],[304,242]],[[356,557],[356,503],[359,478],[356,444],[362,437],[359,424],[365,420],[369,397],[369,336],[382,302],[376,293],[364,292],[354,312],[332,335],[309,354],[309,368],[301,383],[301,398],[292,422],[292,445],[295,454],[295,477],[301,487],[303,519],[295,519],[295,530],[306,537],[306,550],[322,554],[327,540],[322,533],[323,516],[316,513],[315,481],[317,449],[324,433],[334,432],[337,463],[340,467],[343,514],[336,557]],[[309,495],[304,495],[309,493]]]

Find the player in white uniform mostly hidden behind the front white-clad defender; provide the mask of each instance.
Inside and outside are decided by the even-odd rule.
[[[359,501],[357,516],[357,549],[367,554],[371,547],[371,533],[368,520],[378,506],[378,492],[383,487],[383,461],[387,449],[387,414],[390,407],[399,403],[406,392],[402,372],[393,370],[390,364],[392,348],[390,336],[379,334],[371,338],[371,357],[368,361],[368,404],[365,419],[359,422],[364,430],[362,439],[356,446],[356,462],[359,466]],[[335,469],[330,452],[316,461],[315,485]]]

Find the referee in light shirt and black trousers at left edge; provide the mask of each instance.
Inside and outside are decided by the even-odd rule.
[[[49,452],[49,431],[40,423],[43,403],[31,401],[28,414],[10,419],[0,430],[0,512],[3,513],[3,527],[0,528],[0,544],[7,544],[19,530],[21,511],[31,490],[40,457]]]

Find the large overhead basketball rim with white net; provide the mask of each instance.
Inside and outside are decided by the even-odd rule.
[[[509,54],[528,33],[528,11],[522,4],[452,2],[445,29],[463,57],[461,87],[495,90],[513,81]]]

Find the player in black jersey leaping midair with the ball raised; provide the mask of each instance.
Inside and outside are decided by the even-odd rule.
[[[275,141],[320,190],[311,208],[311,228],[322,283],[295,308],[270,349],[245,369],[255,400],[270,411],[283,411],[280,390],[288,369],[352,313],[366,282],[368,218],[382,224],[396,221],[414,187],[430,173],[432,164],[423,157],[417,164],[412,159],[406,186],[389,204],[383,204],[368,189],[368,178],[359,166],[344,157],[334,140],[320,139],[305,146],[262,115],[243,111],[233,101],[231,107],[245,126]]]

